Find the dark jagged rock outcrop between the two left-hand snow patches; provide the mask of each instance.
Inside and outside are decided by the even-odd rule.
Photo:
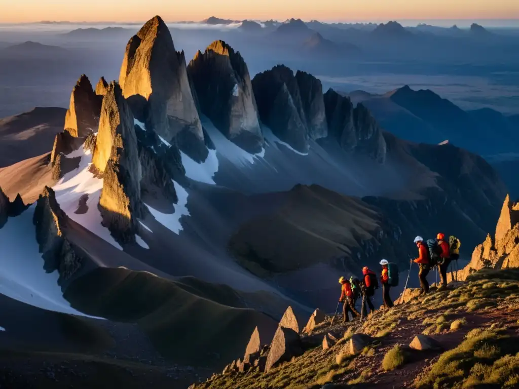
[[[58,270],[58,283],[70,279],[82,266],[83,258],[66,238],[69,217],[61,210],[54,191],[45,187],[34,210],[33,224],[36,226],[36,241],[45,261],[45,270]]]

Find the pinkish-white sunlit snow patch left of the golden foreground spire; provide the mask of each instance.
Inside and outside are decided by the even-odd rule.
[[[85,227],[89,231],[98,235],[106,242],[114,247],[122,250],[122,247],[115,241],[110,231],[101,225],[102,217],[99,212],[98,204],[103,189],[103,179],[95,177],[89,171],[92,163],[92,153],[90,150],[80,147],[79,150],[73,151],[67,155],[67,158],[80,156],[79,167],[72,172],[64,175],[62,179],[52,188],[56,193],[56,201],[60,208],[76,223]],[[77,213],[79,202],[84,201],[87,196],[86,205],[88,210],[86,213]]]

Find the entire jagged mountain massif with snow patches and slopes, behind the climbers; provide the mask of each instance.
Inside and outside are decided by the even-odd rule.
[[[424,109],[436,99],[408,93],[384,99],[440,132]],[[70,338],[91,339],[60,339],[58,355],[110,351],[128,363],[112,345],[131,331],[129,348],[153,355],[148,385],[163,384],[156,353],[172,377],[195,380],[239,355],[256,326],[271,338],[286,305],[298,316],[333,310],[340,275],[382,257],[406,268],[417,233],[481,242],[507,191],[489,163],[456,142],[402,139],[372,99],[352,100],[284,65],[251,78],[223,40],[186,61],[160,17],[146,22],[117,81],[94,87],[82,75],[66,112],[0,122],[24,150],[0,170],[0,311],[24,312],[6,333],[34,355],[13,327],[38,312],[40,327],[61,320]],[[146,364],[130,366],[142,385]]]

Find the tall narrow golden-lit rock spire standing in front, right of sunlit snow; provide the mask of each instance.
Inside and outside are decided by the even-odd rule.
[[[133,116],[115,81],[103,99],[92,163],[104,178],[99,200],[103,224],[116,239],[131,241],[136,218],[142,216],[142,171]]]

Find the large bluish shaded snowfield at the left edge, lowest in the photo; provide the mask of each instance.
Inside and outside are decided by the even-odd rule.
[[[36,205],[16,218],[9,218],[0,233],[3,247],[0,266],[0,293],[49,311],[83,315],[63,298],[59,273],[46,273],[44,260],[34,239],[33,215]],[[31,238],[31,239],[29,239]]]

